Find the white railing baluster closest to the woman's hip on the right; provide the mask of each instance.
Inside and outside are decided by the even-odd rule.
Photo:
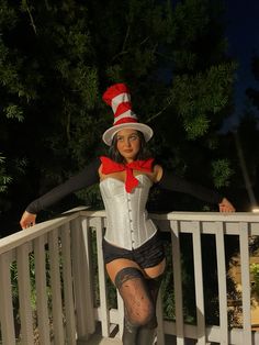
[[[170,221],[171,243],[172,243],[172,267],[173,267],[173,287],[176,304],[176,326],[177,345],[184,344],[183,329],[183,303],[182,303],[182,277],[181,277],[181,252],[180,252],[180,230],[178,221]]]

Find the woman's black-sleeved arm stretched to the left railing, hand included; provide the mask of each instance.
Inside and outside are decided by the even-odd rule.
[[[47,193],[32,201],[23,213],[20,225],[22,229],[26,229],[35,224],[36,214],[59,201],[64,197],[89,186],[92,186],[99,181],[98,168],[100,166],[100,159],[95,158],[93,162],[88,164],[86,168],[79,174],[72,176],[66,182],[57,186]]]

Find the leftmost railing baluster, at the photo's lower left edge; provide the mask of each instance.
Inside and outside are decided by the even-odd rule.
[[[15,345],[10,253],[0,255],[0,325],[2,344]]]

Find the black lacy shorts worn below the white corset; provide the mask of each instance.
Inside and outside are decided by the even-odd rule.
[[[142,268],[148,268],[158,265],[165,258],[164,244],[158,232],[136,249],[128,251],[113,246],[104,238],[102,248],[105,264],[117,258],[126,258],[135,261]]]

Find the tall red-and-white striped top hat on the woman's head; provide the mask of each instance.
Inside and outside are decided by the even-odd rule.
[[[123,129],[133,129],[144,134],[146,142],[153,136],[153,130],[139,123],[136,114],[132,111],[131,94],[125,84],[115,84],[103,93],[103,101],[112,107],[114,112],[113,126],[108,129],[103,135],[103,142],[111,146],[114,135]]]

